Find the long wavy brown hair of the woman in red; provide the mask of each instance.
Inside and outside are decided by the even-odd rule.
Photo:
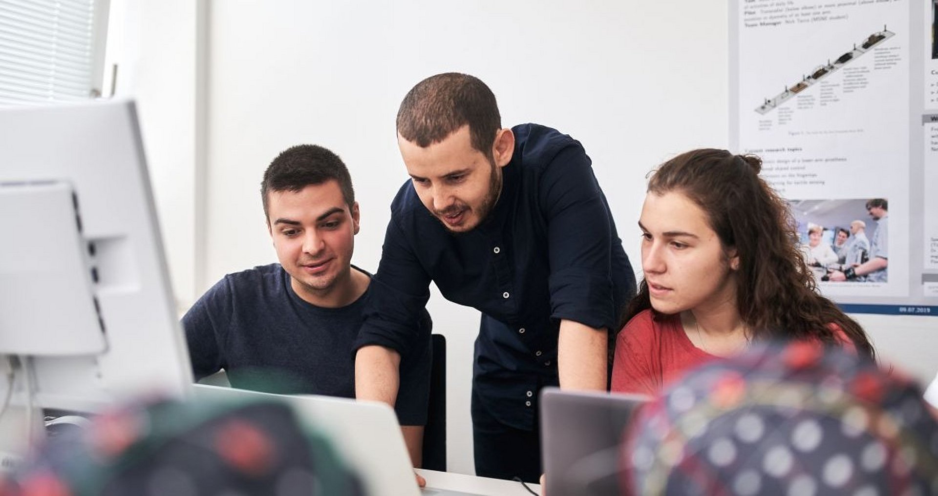
[[[739,266],[736,307],[753,339],[816,338],[837,342],[840,326],[859,353],[873,356],[863,328],[817,293],[799,250],[797,227],[787,203],[759,177],[762,159],[726,150],[693,150],[668,160],[651,176],[648,192],[686,195],[703,210],[724,250],[735,249]],[[648,284],[628,304],[628,322],[651,308]],[[620,326],[621,327],[621,326]]]

